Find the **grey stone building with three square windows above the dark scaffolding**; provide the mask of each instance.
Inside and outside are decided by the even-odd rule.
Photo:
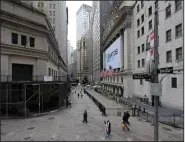
[[[1,19],[1,81],[66,79],[67,67],[44,13],[17,1],[1,1]]]

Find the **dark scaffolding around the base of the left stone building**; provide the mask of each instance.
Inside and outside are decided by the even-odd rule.
[[[1,118],[27,117],[61,108],[68,89],[65,81],[1,82]]]

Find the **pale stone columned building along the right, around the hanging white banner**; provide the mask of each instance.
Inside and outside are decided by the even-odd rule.
[[[159,69],[173,67],[174,74],[159,74],[162,84],[162,106],[183,109],[183,2],[158,1]],[[112,14],[105,23],[103,35],[104,67],[106,50],[119,41],[120,67],[104,72],[104,90],[115,99],[136,98],[153,105],[150,81],[133,79],[133,74],[146,74],[147,53],[152,48],[154,1],[114,2]],[[121,20],[120,20],[121,19]],[[116,26],[114,26],[116,25]],[[114,27],[114,28],[113,28]],[[155,33],[154,33],[155,34]],[[175,94],[175,96],[174,96]]]

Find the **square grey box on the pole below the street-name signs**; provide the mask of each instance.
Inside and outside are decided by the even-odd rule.
[[[150,83],[150,93],[153,96],[162,96],[162,84]]]

